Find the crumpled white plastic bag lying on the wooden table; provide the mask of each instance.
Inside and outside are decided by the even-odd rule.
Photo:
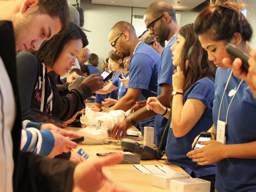
[[[126,113],[123,110],[111,110],[109,113],[94,112],[89,107],[85,108],[85,115],[80,120],[87,127],[77,131],[84,137],[82,144],[103,144],[108,137],[108,129],[116,123],[123,121]]]

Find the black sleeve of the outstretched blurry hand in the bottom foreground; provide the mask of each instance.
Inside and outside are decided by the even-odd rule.
[[[20,155],[18,191],[72,191],[77,164],[48,159],[31,152],[21,152]]]

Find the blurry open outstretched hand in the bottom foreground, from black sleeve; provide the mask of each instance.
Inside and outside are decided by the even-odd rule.
[[[123,154],[110,154],[96,160],[87,160],[78,164],[73,175],[73,192],[128,192],[102,172],[104,166],[118,164]]]

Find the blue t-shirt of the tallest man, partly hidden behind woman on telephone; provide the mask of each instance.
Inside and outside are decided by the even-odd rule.
[[[172,50],[170,47],[176,42],[177,36],[174,36],[166,46],[166,48],[163,50],[161,55],[161,60],[158,68],[158,88],[157,88],[157,95],[161,94],[161,83],[167,83],[169,85],[172,85],[172,75],[175,67],[172,64]],[[154,117],[154,143],[159,146],[162,135],[164,133],[164,128],[167,125],[168,119],[166,119],[164,116],[157,114]],[[168,130],[166,129],[164,140],[162,144],[166,144],[167,141],[167,134]]]

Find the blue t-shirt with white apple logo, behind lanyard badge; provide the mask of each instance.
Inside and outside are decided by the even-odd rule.
[[[220,107],[220,102],[230,75],[231,69],[218,67],[215,80],[215,100],[213,102],[213,121],[217,129],[220,109],[220,120],[226,121],[228,106],[237,90],[241,79],[230,78],[227,90]],[[233,91],[234,92],[234,91]],[[230,95],[230,96],[229,96]],[[256,141],[256,100],[247,86],[242,82],[228,110],[226,125],[226,144],[249,143]],[[256,191],[256,159],[226,158],[216,163],[215,188],[219,191]]]

